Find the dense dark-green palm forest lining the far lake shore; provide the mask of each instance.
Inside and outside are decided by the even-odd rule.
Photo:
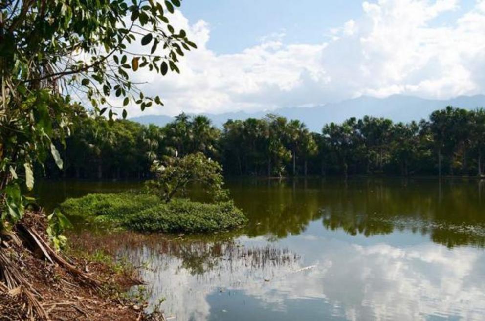
[[[64,147],[65,170],[48,163],[48,177],[145,178],[163,155],[201,151],[226,175],[482,175],[485,110],[446,107],[409,124],[366,116],[310,132],[277,115],[228,120],[178,115],[164,127],[108,121],[85,113]]]

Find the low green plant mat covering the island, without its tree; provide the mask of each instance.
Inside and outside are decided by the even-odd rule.
[[[242,227],[247,219],[232,201],[213,204],[154,195],[88,194],[61,204],[66,215],[115,223],[138,232],[210,233]]]

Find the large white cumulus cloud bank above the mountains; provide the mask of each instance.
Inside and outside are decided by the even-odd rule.
[[[183,59],[181,75],[137,77],[148,82],[145,91],[164,98],[165,107],[148,113],[170,115],[321,105],[360,95],[483,93],[485,1],[445,25],[434,23],[459,7],[458,0],[365,1],[360,17],[322,30],[331,34],[326,42],[285,43],[278,31],[234,54],[210,50],[210,25],[176,12],[173,24],[188,31],[198,50]]]

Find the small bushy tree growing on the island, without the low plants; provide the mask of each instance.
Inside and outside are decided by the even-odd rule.
[[[151,187],[165,203],[170,202],[177,192],[185,194],[187,185],[193,182],[205,185],[214,201],[228,198],[228,192],[223,188],[222,167],[201,152],[180,158],[167,157],[164,162],[155,160],[152,172],[155,179]]]

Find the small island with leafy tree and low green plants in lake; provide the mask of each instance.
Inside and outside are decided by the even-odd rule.
[[[154,161],[155,179],[143,191],[88,194],[67,199],[61,210],[67,216],[106,223],[137,232],[212,233],[242,227],[247,219],[223,186],[222,168],[202,153]],[[207,187],[210,203],[174,198],[199,182]]]

